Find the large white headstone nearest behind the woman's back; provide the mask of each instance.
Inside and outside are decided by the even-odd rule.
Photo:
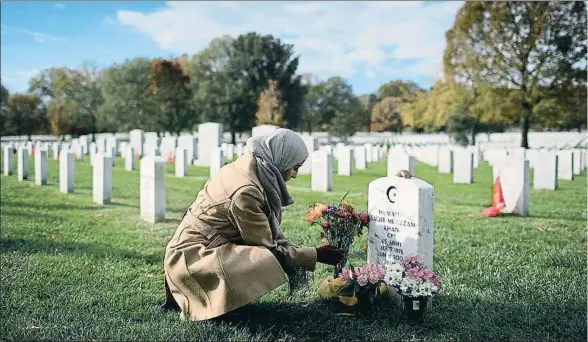
[[[141,159],[141,218],[155,223],[165,219],[165,159],[147,156]]]

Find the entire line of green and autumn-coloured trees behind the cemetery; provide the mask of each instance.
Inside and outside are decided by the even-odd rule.
[[[294,46],[272,35],[213,39],[197,54],[134,58],[106,69],[50,68],[28,92],[0,88],[1,135],[195,130],[273,124],[329,132],[484,132],[586,128],[584,2],[466,2],[446,33],[444,78],[430,89],[391,80],[355,95],[341,77],[297,73]]]

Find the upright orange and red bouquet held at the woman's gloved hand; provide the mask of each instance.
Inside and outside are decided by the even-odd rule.
[[[347,195],[347,194],[346,194]],[[320,225],[321,239],[326,239],[327,244],[343,250],[343,260],[335,266],[334,276],[337,277],[347,264],[347,253],[353,238],[362,233],[369,223],[369,215],[355,211],[353,204],[345,201],[345,196],[339,205],[327,205],[315,203],[310,206],[306,214],[306,220],[310,225]]]

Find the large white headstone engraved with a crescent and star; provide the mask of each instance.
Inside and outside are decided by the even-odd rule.
[[[368,263],[402,262],[419,254],[433,269],[434,188],[427,182],[403,177],[378,178],[368,185]]]

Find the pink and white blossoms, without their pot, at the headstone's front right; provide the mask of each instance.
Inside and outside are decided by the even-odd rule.
[[[404,257],[402,264],[388,264],[386,284],[406,297],[431,297],[441,290],[439,276],[429,270],[416,254]]]

